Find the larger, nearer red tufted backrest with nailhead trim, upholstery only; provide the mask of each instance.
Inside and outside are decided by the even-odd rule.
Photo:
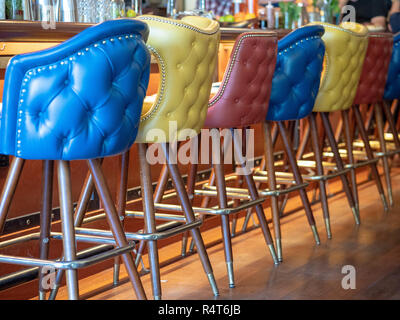
[[[223,81],[209,102],[205,127],[234,128],[264,121],[276,55],[276,33],[243,33],[236,39]]]

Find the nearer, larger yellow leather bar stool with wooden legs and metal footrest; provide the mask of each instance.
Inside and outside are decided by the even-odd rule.
[[[174,144],[197,137],[203,127],[216,68],[219,45],[218,22],[199,16],[186,16],[174,20],[152,15],[138,18],[150,30],[147,47],[156,59],[160,72],[158,92],[143,104],[136,145],[138,148],[143,211],[126,210],[129,152],[122,156],[117,208],[120,218],[144,219],[143,233],[128,232],[128,239],[140,240],[136,262],[140,260],[145,244],[148,248],[154,299],[161,299],[161,281],[157,241],[179,233],[191,232],[203,269],[214,295],[218,288],[199,227],[185,185],[179,172]],[[150,145],[149,145],[150,144]],[[153,198],[152,164],[166,164],[183,214],[158,214],[157,199]],[[135,173],[136,174],[136,173]],[[92,190],[90,175],[76,212],[83,220]],[[156,225],[157,220],[168,220]],[[171,221],[173,220],[173,221]],[[79,229],[85,233],[84,228]],[[93,232],[91,232],[93,234]],[[103,232],[99,232],[104,236]],[[119,262],[116,261],[114,283],[118,282]]]

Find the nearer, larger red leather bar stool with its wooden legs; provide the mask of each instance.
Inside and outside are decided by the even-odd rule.
[[[245,33],[240,35],[235,42],[231,57],[226,68],[219,90],[211,98],[208,107],[205,128],[215,130],[216,135],[221,136],[223,131],[216,129],[230,129],[231,135],[224,136],[224,142],[232,139],[233,153],[238,166],[241,166],[243,180],[247,185],[246,197],[251,201],[260,199],[251,168],[246,168],[247,161],[242,150],[243,146],[236,134],[238,128],[242,128],[242,134],[246,134],[246,128],[252,124],[261,123],[268,112],[268,101],[271,94],[271,82],[275,70],[277,57],[277,37],[274,33]],[[225,134],[227,132],[225,131]],[[245,139],[246,140],[246,139]],[[253,142],[254,143],[254,142]],[[222,144],[222,143],[221,143]],[[246,144],[248,145],[248,143]],[[224,152],[222,152],[224,151]],[[229,189],[226,186],[224,173],[224,158],[226,149],[222,146],[220,152],[213,154],[213,171],[215,175],[216,196],[220,209],[228,208],[230,190],[241,192],[239,189]],[[210,186],[210,184],[207,184]],[[250,205],[251,203],[249,203]],[[234,206],[233,206],[234,207]],[[246,208],[242,206],[243,209]],[[264,239],[269,247],[274,263],[278,263],[273,240],[265,218],[261,203],[254,207]],[[221,231],[224,240],[225,262],[227,265],[229,286],[234,287],[233,252],[231,244],[231,232],[229,226],[229,214],[221,215]]]

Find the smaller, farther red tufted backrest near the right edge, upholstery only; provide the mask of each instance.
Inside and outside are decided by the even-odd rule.
[[[368,34],[368,49],[354,104],[382,101],[392,47],[393,35],[391,33]]]

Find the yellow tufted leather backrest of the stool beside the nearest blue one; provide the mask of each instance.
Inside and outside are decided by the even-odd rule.
[[[148,48],[158,60],[160,84],[155,102],[145,105],[137,142],[168,142],[200,132],[207,115],[216,67],[219,24],[199,16],[173,20],[143,15],[150,29]],[[192,129],[192,135],[185,129]],[[172,133],[173,134],[173,133]]]

